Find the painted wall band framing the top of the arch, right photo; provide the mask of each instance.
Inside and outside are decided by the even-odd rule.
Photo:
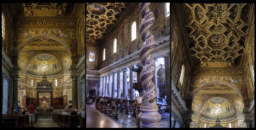
[[[245,84],[244,77],[241,76],[197,76],[191,77],[190,84],[188,85],[188,98],[193,97],[195,90],[210,81],[226,81],[232,85],[235,85],[239,90],[241,90],[241,95],[243,99],[248,99],[247,85]]]

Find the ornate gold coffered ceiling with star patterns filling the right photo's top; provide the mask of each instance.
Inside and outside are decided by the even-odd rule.
[[[245,67],[254,45],[254,4],[172,4],[172,17],[192,70]]]

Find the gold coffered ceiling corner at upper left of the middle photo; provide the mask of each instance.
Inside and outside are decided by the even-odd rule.
[[[95,41],[115,24],[128,3],[86,3],[86,39]]]

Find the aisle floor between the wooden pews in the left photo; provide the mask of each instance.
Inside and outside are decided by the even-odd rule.
[[[57,123],[52,121],[51,117],[38,117],[38,121],[34,124],[34,127],[59,127]]]

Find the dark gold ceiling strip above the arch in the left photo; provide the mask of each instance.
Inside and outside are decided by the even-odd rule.
[[[84,3],[6,3],[7,17],[13,26],[47,26],[76,28],[83,17]],[[18,26],[17,26],[18,25]]]

